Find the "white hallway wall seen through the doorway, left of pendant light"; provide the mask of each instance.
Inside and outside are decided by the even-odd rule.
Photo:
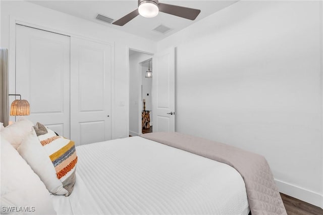
[[[141,125],[140,113],[142,110],[142,66],[140,63],[149,58],[151,58],[151,55],[142,52],[134,52],[132,55],[129,55],[129,135],[131,136],[141,134],[141,127],[139,125]]]

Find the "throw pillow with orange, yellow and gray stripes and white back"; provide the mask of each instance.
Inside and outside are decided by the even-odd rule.
[[[50,129],[37,135],[32,128],[17,150],[50,193],[65,196],[72,193],[78,158],[73,141]]]

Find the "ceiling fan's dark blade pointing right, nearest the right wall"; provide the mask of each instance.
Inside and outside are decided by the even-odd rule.
[[[195,20],[201,12],[201,10],[198,9],[185,8],[164,3],[159,3],[159,11],[190,20]]]

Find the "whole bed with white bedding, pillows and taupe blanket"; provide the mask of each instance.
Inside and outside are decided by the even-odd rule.
[[[1,130],[1,206],[30,214],[286,214],[261,155],[179,133],[75,147],[28,120]]]

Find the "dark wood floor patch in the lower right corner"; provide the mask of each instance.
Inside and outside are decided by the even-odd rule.
[[[288,215],[323,215],[323,209],[281,193]]]

